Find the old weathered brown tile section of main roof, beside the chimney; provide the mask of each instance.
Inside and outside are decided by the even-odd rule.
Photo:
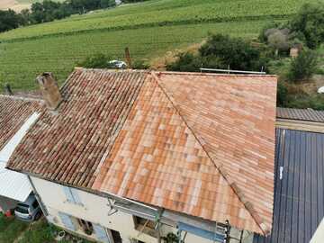
[[[76,70],[57,112],[45,111],[8,167],[53,181],[91,187],[146,76]]]

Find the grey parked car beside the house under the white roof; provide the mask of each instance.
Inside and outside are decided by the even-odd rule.
[[[39,220],[41,216],[41,210],[40,205],[35,198],[35,195],[31,193],[25,202],[18,202],[17,207],[14,209],[14,214],[18,220]]]

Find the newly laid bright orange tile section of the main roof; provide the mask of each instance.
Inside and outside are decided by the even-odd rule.
[[[271,229],[275,77],[147,81],[93,188],[239,229]]]

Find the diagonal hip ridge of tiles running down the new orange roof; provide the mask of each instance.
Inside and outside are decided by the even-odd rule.
[[[265,235],[270,233],[270,229],[268,229],[268,227],[266,226],[266,223],[264,222],[264,220],[261,218],[261,216],[257,213],[257,211],[254,209],[254,205],[252,202],[248,202],[247,198],[245,196],[245,194],[242,192],[242,190],[238,187],[238,184],[236,182],[234,182],[234,180],[230,177],[229,173],[227,172],[227,170],[220,164],[216,163],[210,156],[209,152],[207,151],[207,149],[205,148],[205,142],[203,140],[203,138],[201,138],[201,136],[195,134],[195,132],[193,131],[193,129],[191,128],[191,126],[188,124],[188,121],[186,121],[184,119],[184,116],[181,114],[181,112],[179,111],[180,109],[178,108],[178,105],[175,104],[174,99],[172,97],[172,94],[169,94],[169,92],[166,91],[166,87],[161,83],[161,80],[159,79],[159,77],[157,76],[157,74],[155,72],[151,72],[151,75],[154,77],[154,79],[157,82],[157,85],[160,87],[160,89],[162,90],[162,92],[164,94],[166,94],[167,99],[172,103],[172,105],[175,108],[175,111],[179,114],[179,116],[181,117],[181,119],[184,121],[185,126],[191,130],[191,132],[193,133],[193,136],[197,139],[197,141],[200,143],[200,145],[202,146],[203,151],[206,153],[207,157],[209,157],[211,159],[211,162],[214,166],[216,166],[216,168],[219,170],[220,175],[222,175],[225,179],[225,181],[229,184],[230,188],[233,190],[233,192],[238,196],[238,200],[240,202],[243,203],[243,205],[245,206],[245,208],[247,209],[247,211],[250,213],[251,217],[253,218],[253,220],[256,221],[257,226],[261,229],[262,232],[264,232]]]

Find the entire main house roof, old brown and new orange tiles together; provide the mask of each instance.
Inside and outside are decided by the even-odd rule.
[[[238,229],[272,225],[275,76],[78,69],[9,167]]]

